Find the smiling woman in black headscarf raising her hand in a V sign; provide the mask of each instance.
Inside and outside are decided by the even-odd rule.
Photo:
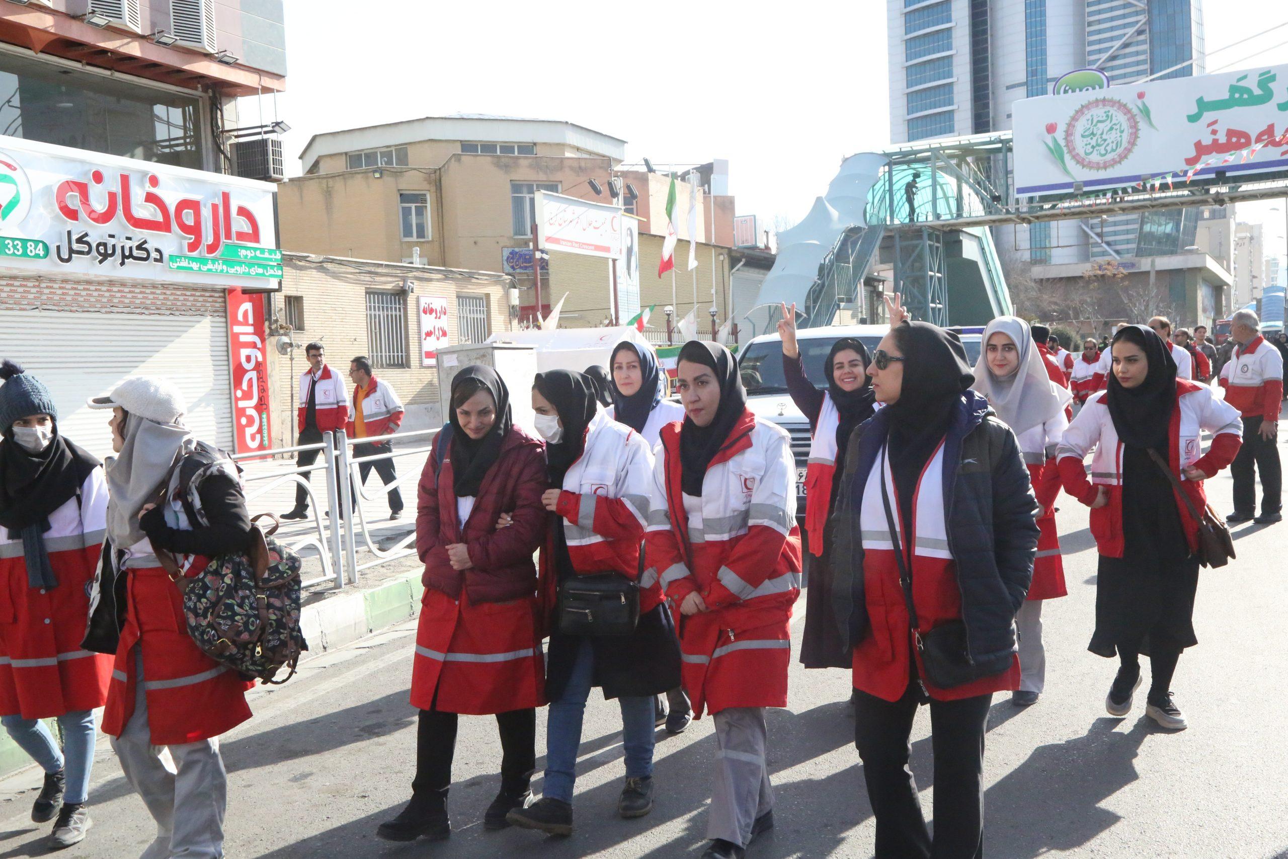
[[[858,337],[841,337],[823,362],[827,388],[819,390],[805,375],[796,343],[796,305],[782,305],[778,336],[783,341],[783,377],[796,408],[809,421],[809,467],[805,471],[805,547],[809,587],[805,589],[805,632],[801,665],[806,668],[849,668],[850,652],[832,623],[832,571],[827,564],[827,520],[836,491],[836,467],[845,461],[850,433],[872,417],[876,399],[868,377],[868,349]]]

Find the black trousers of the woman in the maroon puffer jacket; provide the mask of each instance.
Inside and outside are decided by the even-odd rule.
[[[416,726],[416,778],[412,796],[438,806],[447,801],[456,752],[456,713],[421,710]],[[501,734],[501,791],[516,796],[528,789],[537,769],[537,711],[511,710],[496,715]]]

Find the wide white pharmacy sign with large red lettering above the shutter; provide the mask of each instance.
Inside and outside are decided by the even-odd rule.
[[[0,137],[0,269],[276,288],[265,182]]]

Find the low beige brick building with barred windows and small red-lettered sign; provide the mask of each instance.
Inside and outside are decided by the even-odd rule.
[[[314,340],[345,380],[352,358],[370,357],[375,375],[407,407],[404,430],[440,426],[438,370],[421,361],[419,299],[447,303],[450,343],[482,343],[513,325],[509,285],[510,278],[496,272],[283,252],[282,291],[270,299],[269,331],[298,348],[292,355],[268,349],[273,447],[295,443],[299,377],[308,367],[304,346]],[[348,381],[346,389],[353,390]]]

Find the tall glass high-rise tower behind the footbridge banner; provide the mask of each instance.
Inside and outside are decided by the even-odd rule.
[[[1204,71],[1202,0],[886,0],[886,14],[896,143],[1010,129],[1018,99],[1077,68],[1112,84]],[[1142,233],[1154,247],[1186,228],[1177,211],[1006,228],[997,240],[1033,263],[1070,263],[1132,256]]]

